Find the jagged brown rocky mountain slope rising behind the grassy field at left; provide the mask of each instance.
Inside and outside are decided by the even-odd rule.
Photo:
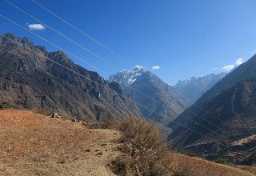
[[[48,52],[46,48],[35,46],[27,38],[14,37],[12,34],[4,36],[0,37],[0,102],[9,102],[19,108],[54,110],[75,118],[121,119],[140,115],[133,101],[118,95],[123,94],[118,84],[108,84],[96,72],[74,64],[60,51]],[[31,50],[61,63],[93,82]]]

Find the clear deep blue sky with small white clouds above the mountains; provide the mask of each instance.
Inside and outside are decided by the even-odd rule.
[[[104,78],[137,65],[174,85],[180,79],[232,70],[256,52],[254,0],[36,0],[119,56],[31,0],[6,1],[0,1],[1,15],[104,70],[105,74],[69,54]],[[30,38],[49,51],[60,50],[0,17],[0,34],[4,33]]]

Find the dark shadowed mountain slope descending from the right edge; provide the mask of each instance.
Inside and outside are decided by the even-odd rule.
[[[170,134],[169,139],[177,150],[194,152],[212,159],[222,156],[233,162],[247,161],[247,164],[253,164],[255,141],[250,141],[250,145],[239,147],[235,146],[234,142],[256,134],[255,113],[256,56],[254,55],[248,62],[222,78],[193,106],[176,118],[177,122],[194,131],[170,123],[173,133]],[[197,132],[205,136],[202,137]]]

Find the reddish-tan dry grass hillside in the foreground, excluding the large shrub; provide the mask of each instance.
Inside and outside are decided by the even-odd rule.
[[[122,155],[116,130],[88,129],[25,110],[0,110],[0,135],[1,175],[114,175],[108,165]],[[194,170],[189,175],[255,173],[254,167],[242,170],[182,154],[170,157],[174,167]]]

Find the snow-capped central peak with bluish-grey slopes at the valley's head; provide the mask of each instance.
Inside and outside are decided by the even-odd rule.
[[[110,76],[109,82],[120,83],[127,94],[134,96],[136,102],[156,111],[157,113],[154,113],[143,106],[139,107],[146,118],[154,119],[163,124],[176,118],[190,104],[172,86],[163,82],[150,71],[140,67],[135,67],[134,70],[122,70],[118,74],[113,74]]]

